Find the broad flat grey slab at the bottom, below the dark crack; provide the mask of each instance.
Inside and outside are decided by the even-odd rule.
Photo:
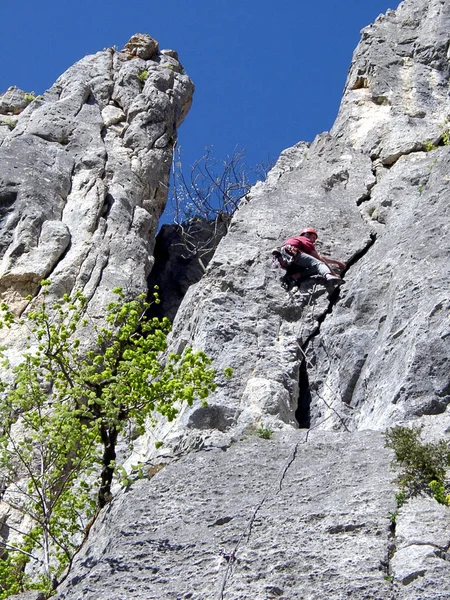
[[[56,598],[391,597],[379,434],[205,444],[117,498]]]

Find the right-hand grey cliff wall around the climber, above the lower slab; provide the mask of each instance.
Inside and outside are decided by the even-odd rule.
[[[235,372],[215,411],[339,429],[423,417],[445,431],[450,147],[425,147],[448,127],[449,25],[448,3],[406,0],[363,30],[331,133],[282,154],[189,290],[176,343]],[[287,294],[268,268],[306,225],[348,265],[331,298],[312,284]]]

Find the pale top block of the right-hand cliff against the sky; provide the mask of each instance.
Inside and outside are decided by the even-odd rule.
[[[406,0],[362,30],[332,133],[392,164],[437,140],[448,102],[444,0]]]

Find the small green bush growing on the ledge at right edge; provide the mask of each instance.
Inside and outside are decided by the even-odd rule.
[[[447,440],[423,442],[422,427],[393,427],[385,433],[386,446],[395,452],[394,465],[400,467],[397,482],[398,506],[418,493],[432,492],[434,497],[445,495],[445,475],[450,464],[450,444]],[[434,483],[432,483],[434,482]],[[438,497],[439,496],[439,497]]]

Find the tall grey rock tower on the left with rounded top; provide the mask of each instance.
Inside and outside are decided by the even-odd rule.
[[[84,290],[94,316],[113,287],[147,288],[193,92],[174,55],[138,34],[82,59],[43,98],[0,97],[0,293],[17,311],[43,278],[56,295]]]

